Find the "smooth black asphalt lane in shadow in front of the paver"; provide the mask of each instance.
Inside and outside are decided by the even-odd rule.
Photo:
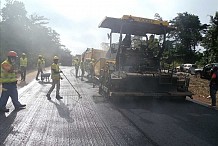
[[[119,111],[144,135],[161,146],[218,145],[218,111],[190,101],[133,100]]]

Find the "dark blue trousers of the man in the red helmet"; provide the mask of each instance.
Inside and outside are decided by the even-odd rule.
[[[21,103],[18,101],[17,84],[13,83],[2,83],[2,95],[0,98],[0,108],[5,108],[8,102],[9,96],[11,97],[14,107],[19,107]]]

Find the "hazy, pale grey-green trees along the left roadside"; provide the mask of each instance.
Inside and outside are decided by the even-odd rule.
[[[43,56],[46,66],[52,63],[55,55],[62,62],[66,58],[72,59],[69,49],[60,43],[60,35],[48,27],[48,23],[49,20],[44,16],[28,16],[23,2],[6,0],[5,6],[1,9],[1,61],[7,57],[10,50],[16,51],[19,57],[26,53],[29,69],[36,67],[38,55]]]

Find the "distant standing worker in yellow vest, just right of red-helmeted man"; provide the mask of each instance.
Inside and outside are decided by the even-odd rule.
[[[21,81],[26,80],[26,68],[27,68],[27,57],[25,53],[22,53],[22,57],[20,58]]]

